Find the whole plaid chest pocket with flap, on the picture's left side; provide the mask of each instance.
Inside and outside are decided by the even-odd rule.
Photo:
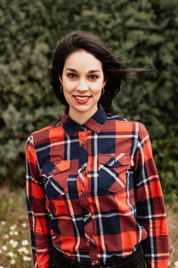
[[[53,163],[53,169],[44,172],[44,189],[48,199],[56,199],[68,192],[69,160]]]

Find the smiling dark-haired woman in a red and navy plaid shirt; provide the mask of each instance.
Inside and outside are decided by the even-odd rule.
[[[167,267],[166,211],[148,132],[111,114],[135,71],[90,33],[58,43],[49,74],[66,110],[27,142],[35,267]]]

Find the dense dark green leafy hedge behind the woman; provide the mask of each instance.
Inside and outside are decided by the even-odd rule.
[[[63,113],[46,75],[54,48],[83,29],[126,67],[150,67],[117,97],[114,113],[145,124],[165,200],[178,204],[177,14],[177,0],[1,0],[0,183],[24,187],[28,134]]]

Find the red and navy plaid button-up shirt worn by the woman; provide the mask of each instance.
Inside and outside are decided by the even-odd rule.
[[[140,122],[100,107],[83,126],[64,113],[32,133],[27,200],[35,267],[50,267],[53,247],[84,265],[109,265],[140,243],[148,267],[167,267],[165,205]]]

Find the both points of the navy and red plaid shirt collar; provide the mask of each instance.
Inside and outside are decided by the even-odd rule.
[[[90,119],[88,119],[88,121],[85,121],[85,126],[88,127],[90,130],[99,133],[106,119],[107,119],[106,113],[104,112],[102,107],[99,107],[97,112],[94,113],[93,116]],[[78,124],[76,121],[72,120],[69,117],[67,111],[64,112],[61,118],[61,126],[69,136],[74,134],[81,127],[80,124]]]

